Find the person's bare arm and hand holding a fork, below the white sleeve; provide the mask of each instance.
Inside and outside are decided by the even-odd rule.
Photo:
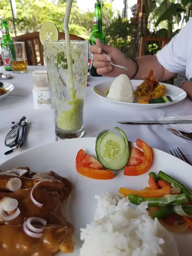
[[[126,74],[129,78],[133,78],[136,73],[136,64],[131,58],[125,57],[120,50],[113,46],[102,44],[99,39],[96,39],[95,42],[97,47],[91,45],[90,52],[93,53],[93,66],[97,69],[99,75],[116,77],[120,74]],[[110,60],[102,54],[102,51],[108,54],[115,64],[124,66],[127,70],[111,66]],[[154,71],[154,76],[157,76],[160,81],[167,80],[175,74],[174,72],[169,72],[163,68],[156,56],[143,56],[137,60],[139,70],[134,76],[134,79],[142,80],[143,75],[147,76],[152,69]]]

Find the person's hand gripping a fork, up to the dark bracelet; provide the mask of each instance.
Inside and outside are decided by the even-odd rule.
[[[95,40],[95,44],[96,47],[91,45],[89,50],[93,53],[93,66],[97,69],[97,74],[110,77],[126,74],[126,70],[112,66],[110,60],[102,54],[103,51],[114,64],[126,67],[127,59],[120,50],[113,46],[102,44],[99,39]]]

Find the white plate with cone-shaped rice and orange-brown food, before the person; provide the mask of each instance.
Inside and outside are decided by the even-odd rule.
[[[186,98],[184,90],[159,83],[151,70],[142,80],[130,80],[121,74],[112,82],[99,83],[94,93],[114,104],[129,108],[152,109],[165,107],[180,102]]]

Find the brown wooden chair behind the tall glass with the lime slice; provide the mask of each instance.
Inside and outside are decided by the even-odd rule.
[[[44,65],[43,45],[39,40],[39,32],[27,33],[21,36],[12,37],[14,42],[25,42],[28,65],[38,65],[37,53],[39,53],[40,65]],[[59,33],[59,40],[65,40],[65,33]],[[84,41],[84,38],[71,35],[72,41]]]

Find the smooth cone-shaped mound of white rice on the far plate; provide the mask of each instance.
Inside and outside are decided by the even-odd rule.
[[[106,96],[110,100],[133,102],[135,99],[131,80],[127,75],[119,75],[112,83]]]

